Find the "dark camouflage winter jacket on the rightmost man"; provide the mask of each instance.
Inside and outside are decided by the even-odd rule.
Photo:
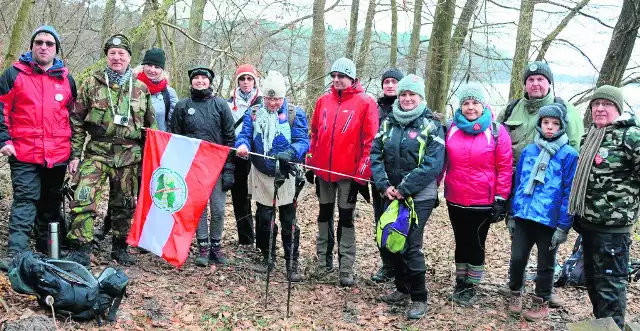
[[[586,137],[586,135],[585,135]],[[606,133],[591,164],[584,228],[628,233],[640,207],[640,127],[635,115],[623,113]]]

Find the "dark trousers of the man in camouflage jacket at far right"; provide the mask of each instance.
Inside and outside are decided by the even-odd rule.
[[[612,317],[624,326],[629,277],[629,233],[582,230],[584,274],[596,318]]]

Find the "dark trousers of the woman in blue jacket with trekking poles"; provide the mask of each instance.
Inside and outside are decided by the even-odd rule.
[[[262,251],[264,257],[269,256],[269,234],[271,220],[275,209],[272,206],[265,206],[257,203],[256,210],[256,246]],[[284,259],[298,261],[300,256],[300,228],[296,225],[293,229],[293,221],[296,218],[296,207],[293,203],[278,207],[280,214],[280,235],[282,236],[282,248],[284,248]],[[273,240],[271,242],[271,256],[276,256],[276,238],[278,237],[278,225],[273,224]]]

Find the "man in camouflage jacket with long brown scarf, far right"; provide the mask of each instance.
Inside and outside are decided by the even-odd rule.
[[[624,326],[630,233],[640,206],[640,127],[623,111],[622,90],[601,86],[589,108],[569,212],[582,233],[584,272],[596,318]],[[580,198],[583,197],[583,200]]]

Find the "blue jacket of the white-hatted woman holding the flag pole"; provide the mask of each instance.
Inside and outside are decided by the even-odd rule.
[[[280,152],[292,150],[293,156],[291,161],[302,162],[309,151],[307,115],[300,107],[296,106],[296,118],[293,121],[293,125],[289,126],[287,104],[288,100],[285,99],[282,107],[278,110],[280,132],[273,140],[271,150],[267,155],[275,156]],[[265,106],[262,105],[262,107]],[[242,131],[240,131],[240,134],[236,138],[236,148],[245,145],[250,152],[264,154],[262,136],[256,135],[254,137],[253,122],[252,110],[249,108],[242,120]],[[287,137],[289,132],[291,132],[290,137]],[[251,163],[263,174],[275,177],[275,160],[252,155]]]

